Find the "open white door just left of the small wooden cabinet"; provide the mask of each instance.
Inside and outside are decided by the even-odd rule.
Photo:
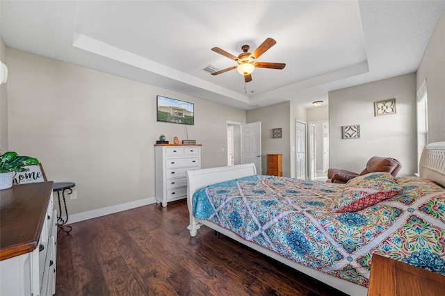
[[[261,174],[261,122],[241,126],[241,163],[254,163]]]

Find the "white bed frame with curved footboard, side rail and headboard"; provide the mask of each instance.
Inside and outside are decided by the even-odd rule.
[[[420,161],[420,176],[424,179],[429,179],[431,181],[436,181],[445,186],[445,142],[435,142],[426,145],[423,149],[421,161]],[[345,281],[343,279],[339,279],[337,277],[332,277],[329,274],[325,274],[324,272],[319,272],[318,270],[314,270],[312,268],[307,268],[304,265],[300,265],[294,261],[286,259],[279,254],[272,252],[264,247],[254,244],[253,242],[249,242],[248,240],[243,240],[239,236],[237,236],[232,231],[228,231],[227,229],[223,229],[222,227],[213,224],[212,222],[206,220],[200,220],[193,217],[192,214],[192,198],[193,194],[200,188],[204,186],[208,186],[213,183],[219,183],[223,181],[229,181],[232,179],[241,178],[243,176],[251,176],[253,174],[257,174],[257,170],[253,163],[248,163],[245,165],[233,165],[229,167],[214,167],[203,170],[193,170],[187,171],[187,183],[188,183],[188,192],[187,192],[187,204],[188,211],[190,212],[190,224],[187,229],[190,231],[190,235],[192,237],[196,236],[197,229],[200,229],[202,225],[205,225],[211,229],[214,229],[220,233],[223,233],[225,236],[236,240],[237,242],[241,242],[243,245],[251,247],[258,252],[269,256],[270,258],[274,258],[281,263],[289,265],[291,268],[303,272],[310,277],[314,277],[314,279],[318,279],[318,281],[322,281],[329,286],[337,288],[338,290],[343,291],[349,295],[366,295],[368,292],[367,288],[363,286],[359,286],[356,283],[351,283],[349,281]]]

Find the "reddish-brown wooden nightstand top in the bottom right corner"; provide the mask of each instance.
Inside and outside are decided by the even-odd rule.
[[[373,254],[368,296],[432,296],[444,293],[444,276]]]

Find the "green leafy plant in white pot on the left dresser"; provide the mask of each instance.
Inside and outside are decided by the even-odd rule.
[[[17,152],[8,151],[0,155],[0,189],[13,186],[15,172],[25,172],[26,165],[38,165],[37,158],[18,156]]]

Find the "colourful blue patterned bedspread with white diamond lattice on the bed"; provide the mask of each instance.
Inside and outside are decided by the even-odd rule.
[[[417,177],[353,213],[330,210],[343,185],[248,176],[201,188],[193,215],[309,268],[368,286],[371,254],[445,275],[445,190]]]

